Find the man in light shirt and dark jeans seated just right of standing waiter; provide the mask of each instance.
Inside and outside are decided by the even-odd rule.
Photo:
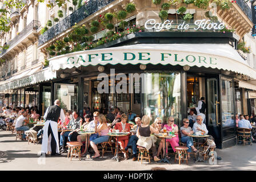
[[[68,124],[68,125],[65,125],[65,124],[64,124],[63,126],[68,126],[68,127],[71,128],[72,130],[79,129],[79,128],[80,128],[80,120],[82,120],[82,118],[80,118],[80,117],[78,116],[77,111],[74,111],[74,112],[72,113],[72,115],[73,115],[73,118],[70,119],[69,124]],[[70,140],[70,137],[71,137],[72,134],[73,134],[73,132],[71,132],[71,131],[65,131],[65,132],[62,131],[62,133],[61,133],[61,141],[59,142],[59,148],[62,148],[62,145],[64,144],[64,143],[63,143],[63,137],[68,137],[68,138],[69,138],[69,141],[71,141],[71,140]],[[75,139],[76,139],[76,138],[77,138],[77,136],[75,136]]]

